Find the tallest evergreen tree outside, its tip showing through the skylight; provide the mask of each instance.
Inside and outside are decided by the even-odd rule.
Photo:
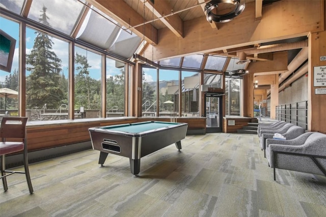
[[[46,16],[46,7],[43,6],[40,23],[49,26]],[[61,79],[61,59],[52,51],[53,42],[48,35],[36,32],[37,37],[31,54],[26,55],[26,70],[31,71],[26,78],[26,101],[28,108],[42,108],[47,104],[47,108],[56,109],[62,104],[67,96],[64,96],[60,88]]]

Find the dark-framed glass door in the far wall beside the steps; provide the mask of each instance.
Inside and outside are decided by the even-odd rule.
[[[205,94],[206,133],[222,132],[222,94]]]

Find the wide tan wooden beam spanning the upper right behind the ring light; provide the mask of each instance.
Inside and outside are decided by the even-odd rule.
[[[266,7],[263,18],[260,22],[256,22],[255,2],[246,3],[246,10],[231,22],[224,23],[218,30],[210,28],[204,16],[187,20],[184,21],[185,37],[179,40],[174,40],[175,35],[170,29],[161,28],[158,30],[159,44],[155,45],[155,50],[160,52],[155,52],[153,59],[156,61],[216,50],[229,50],[238,46],[307,36],[309,32],[320,30],[316,23],[320,23],[323,19],[319,10],[321,1],[315,1],[315,4],[296,1],[296,7],[290,7],[291,5],[291,1],[279,1],[273,7]],[[291,13],[282,8],[291,9]],[[302,13],[303,10],[305,13]],[[301,21],[300,26],[293,25],[297,20]],[[274,23],[277,23],[277,26],[274,26]],[[151,52],[148,49],[145,51],[149,56],[152,56]]]

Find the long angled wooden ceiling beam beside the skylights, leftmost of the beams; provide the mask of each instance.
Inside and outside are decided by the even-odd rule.
[[[104,14],[114,18],[120,24],[129,27],[144,23],[144,18],[127,5],[123,0],[102,1],[88,0],[90,4],[101,10]],[[151,24],[145,24],[130,30],[141,38],[145,38],[150,44],[157,44],[157,29]]]

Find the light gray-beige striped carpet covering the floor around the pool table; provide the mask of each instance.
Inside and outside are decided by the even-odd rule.
[[[168,135],[167,135],[168,136]],[[139,177],[129,159],[86,150],[30,165],[9,176],[0,216],[326,216],[326,177],[273,169],[257,135],[187,136],[142,158]]]

